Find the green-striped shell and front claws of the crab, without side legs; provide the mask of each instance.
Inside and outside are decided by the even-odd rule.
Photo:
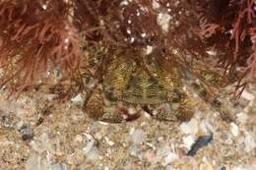
[[[183,91],[177,68],[171,74],[156,60],[144,57],[143,69],[134,59],[115,58],[99,87],[86,103],[89,116],[97,121],[123,123],[138,119],[143,112],[164,121],[187,121],[193,103]]]

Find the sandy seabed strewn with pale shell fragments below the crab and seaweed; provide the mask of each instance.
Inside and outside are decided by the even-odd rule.
[[[247,87],[238,101],[222,99],[225,116],[187,90],[196,103],[189,122],[163,122],[143,113],[136,121],[107,124],[83,112],[81,94],[45,109],[53,94],[27,91],[6,100],[10,91],[2,89],[0,169],[256,169],[255,88]],[[211,135],[212,142],[186,155],[199,137]]]

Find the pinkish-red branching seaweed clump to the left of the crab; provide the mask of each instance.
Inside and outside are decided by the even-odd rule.
[[[0,86],[12,82],[14,91],[23,90],[52,68],[72,76],[83,65],[80,46],[90,28],[75,25],[83,22],[72,15],[78,7],[72,1],[0,3],[0,66],[7,71]]]

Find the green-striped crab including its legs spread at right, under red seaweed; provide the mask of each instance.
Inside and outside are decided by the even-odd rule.
[[[173,54],[179,57],[178,53]],[[91,118],[108,123],[123,123],[136,120],[143,112],[147,112],[163,121],[188,121],[194,114],[195,103],[184,90],[185,84],[189,84],[203,100],[219,109],[222,103],[213,90],[230,85],[238,78],[235,74],[224,76],[223,70],[207,63],[191,62],[187,67],[189,70],[173,66],[166,71],[158,59],[152,56],[143,55],[139,59],[143,60],[145,67],[138,62],[138,58],[119,55],[111,58],[110,66],[102,76],[102,84],[85,102],[85,111]],[[184,83],[184,75],[186,79],[196,75],[196,79],[189,78],[192,81]],[[205,84],[195,83],[195,80]]]

